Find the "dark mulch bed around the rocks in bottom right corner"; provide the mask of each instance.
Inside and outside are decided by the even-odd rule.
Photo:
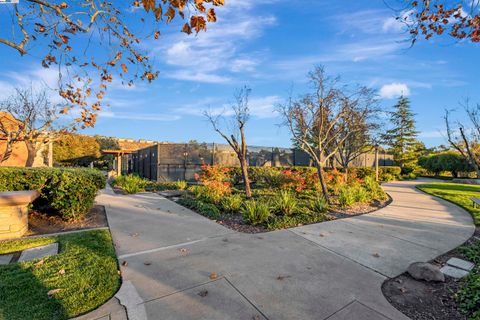
[[[480,227],[465,245],[480,242]],[[452,250],[431,263],[444,265],[448,259],[465,259],[458,250]],[[462,320],[467,319],[460,312],[455,299],[462,280],[445,276],[445,282],[427,282],[413,279],[408,273],[389,279],[383,283],[382,291],[387,300],[403,314],[413,320]]]

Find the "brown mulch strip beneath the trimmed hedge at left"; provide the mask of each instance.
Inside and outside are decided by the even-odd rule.
[[[84,219],[74,222],[67,222],[59,216],[32,210],[28,215],[29,230],[26,236],[99,227],[108,227],[104,206],[95,205]]]

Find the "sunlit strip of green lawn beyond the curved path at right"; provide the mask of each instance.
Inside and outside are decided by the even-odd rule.
[[[418,189],[453,202],[470,212],[475,219],[475,224],[480,225],[480,208],[474,208],[470,198],[480,198],[480,186],[458,183],[435,182],[422,184]]]

